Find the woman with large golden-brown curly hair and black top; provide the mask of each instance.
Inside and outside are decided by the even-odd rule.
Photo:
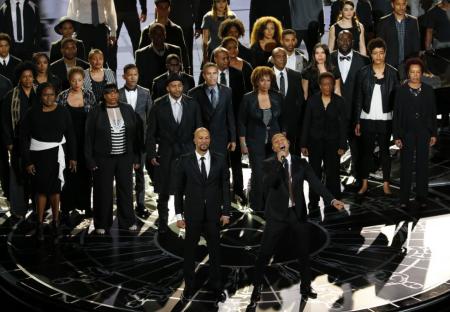
[[[281,22],[272,16],[263,16],[256,20],[250,36],[252,65],[267,66],[272,50],[281,46]]]

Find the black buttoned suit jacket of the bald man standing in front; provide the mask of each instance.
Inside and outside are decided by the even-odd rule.
[[[185,154],[177,161],[175,212],[184,214],[188,223],[218,223],[220,216],[229,215],[230,182],[226,157],[215,152],[210,155],[211,167],[206,181],[195,152]]]

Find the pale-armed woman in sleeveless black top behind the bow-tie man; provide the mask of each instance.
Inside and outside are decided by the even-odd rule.
[[[346,0],[342,4],[337,22],[330,27],[328,47],[333,51],[337,46],[337,37],[343,30],[348,30],[353,35],[353,49],[362,55],[367,55],[366,41],[364,38],[364,26],[358,20],[353,1]]]

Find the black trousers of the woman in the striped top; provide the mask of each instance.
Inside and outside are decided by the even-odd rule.
[[[133,160],[131,155],[96,158],[94,178],[94,225],[109,229],[113,222],[113,183],[116,181],[117,219],[120,228],[136,222],[133,210]]]

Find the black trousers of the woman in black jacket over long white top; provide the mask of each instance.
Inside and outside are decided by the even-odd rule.
[[[373,166],[373,150],[375,142],[378,142],[383,181],[389,182],[391,175],[391,156],[389,154],[391,124],[391,121],[361,121],[361,179],[369,178],[370,169]]]

